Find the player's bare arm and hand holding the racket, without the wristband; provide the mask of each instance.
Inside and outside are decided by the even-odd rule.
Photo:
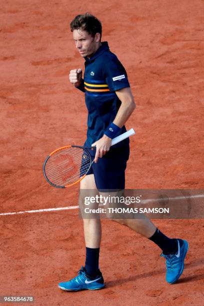
[[[121,128],[134,110],[135,103],[130,87],[115,90],[115,93],[121,101],[121,105],[117,111],[113,123]],[[97,162],[98,157],[102,157],[107,151],[109,151],[111,140],[112,139],[110,137],[104,134],[100,139],[92,143],[92,146],[96,146],[94,162]]]

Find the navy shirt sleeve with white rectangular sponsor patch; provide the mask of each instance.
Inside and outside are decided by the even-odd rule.
[[[114,54],[107,56],[103,73],[110,91],[130,87],[125,68]]]

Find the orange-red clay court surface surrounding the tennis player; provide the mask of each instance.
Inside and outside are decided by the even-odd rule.
[[[203,0],[0,1],[0,213],[77,205],[78,185],[43,178],[48,152],[83,144],[83,93],[69,70],[83,68],[69,31],[90,11],[125,66],[137,108],[126,188],[203,189]],[[77,209],[0,215],[0,295],[33,295],[36,305],[203,304],[203,219],[155,220],[189,251],[180,280],[165,282],[151,241],[102,220],[100,269],[106,288],[64,292],[85,249]]]

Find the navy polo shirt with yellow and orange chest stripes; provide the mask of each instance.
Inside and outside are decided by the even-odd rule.
[[[130,86],[124,67],[117,56],[110,52],[107,41],[102,42],[90,58],[85,57],[84,64],[84,78],[78,89],[85,92],[85,104],[88,110],[87,139],[84,145],[91,146],[103,136],[117,114],[121,102],[115,90]],[[125,131],[123,125],[117,135]],[[113,147],[128,143],[127,138]]]

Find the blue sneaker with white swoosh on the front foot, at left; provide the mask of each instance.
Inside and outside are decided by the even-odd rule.
[[[95,277],[91,277],[86,273],[85,268],[81,266],[76,277],[69,281],[59,282],[58,287],[65,291],[97,290],[104,287],[104,280],[100,270]]]

